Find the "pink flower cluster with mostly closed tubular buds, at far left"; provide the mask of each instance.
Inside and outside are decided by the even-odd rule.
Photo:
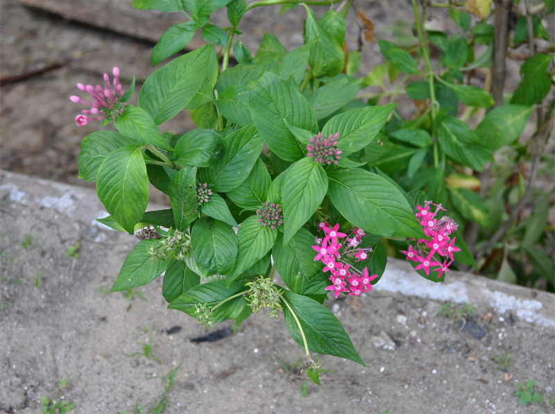
[[[83,92],[87,92],[92,97],[92,103],[83,101],[79,96],[70,96],[71,101],[75,103],[84,103],[89,105],[91,109],[83,110],[83,114],[77,115],[75,121],[78,126],[85,126],[89,121],[94,119],[116,119],[118,115],[121,115],[123,108],[127,105],[125,102],[121,101],[123,96],[123,89],[119,83],[119,68],[114,67],[112,70],[114,74],[114,79],[112,84],[110,84],[110,76],[104,74],[104,81],[107,87],[102,87],[101,85],[83,85],[83,83],[78,83],[77,87]],[[94,117],[90,117],[93,115]]]

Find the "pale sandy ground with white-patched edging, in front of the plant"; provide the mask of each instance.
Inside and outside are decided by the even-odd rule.
[[[40,413],[46,396],[77,413],[133,413],[179,366],[166,414],[554,412],[555,295],[456,272],[438,286],[391,260],[371,293],[329,302],[368,367],[322,356],[333,372],[316,386],[280,365],[302,356],[282,318],[257,314],[195,343],[231,323],[206,330],[167,309],[161,277],[133,298],[107,293],[136,240],[101,214],[92,189],[1,172],[0,411]],[[475,309],[448,318],[446,300]],[[511,365],[497,370],[503,351]],[[529,379],[543,403],[522,407],[515,391]]]

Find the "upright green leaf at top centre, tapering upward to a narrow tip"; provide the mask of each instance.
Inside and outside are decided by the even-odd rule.
[[[341,44],[327,33],[316,21],[314,12],[305,5],[307,9],[307,20],[305,21],[305,42],[316,41],[310,49],[309,65],[315,78],[320,76],[336,76],[340,74],[345,66],[345,55]]]

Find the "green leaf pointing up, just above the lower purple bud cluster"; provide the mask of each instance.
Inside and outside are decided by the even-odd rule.
[[[228,191],[227,194],[232,202],[239,207],[256,209],[264,204],[271,182],[270,173],[268,173],[262,159],[259,158],[247,179],[239,187]]]

